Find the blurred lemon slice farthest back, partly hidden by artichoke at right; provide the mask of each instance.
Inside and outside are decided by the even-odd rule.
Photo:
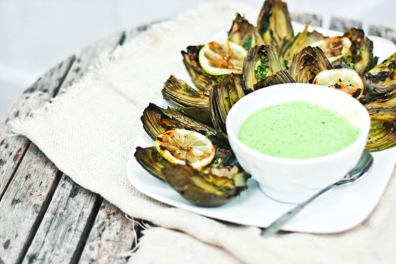
[[[319,47],[328,61],[334,62],[343,57],[351,47],[352,42],[346,37],[331,37],[310,44],[311,47]]]

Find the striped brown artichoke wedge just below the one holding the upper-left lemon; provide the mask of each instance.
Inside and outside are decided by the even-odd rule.
[[[196,90],[185,81],[171,75],[163,85],[162,96],[187,116],[211,124],[208,91]]]

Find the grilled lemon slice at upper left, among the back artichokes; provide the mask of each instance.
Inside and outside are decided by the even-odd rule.
[[[242,74],[246,50],[234,42],[212,41],[202,46],[198,58],[202,69],[211,75]]]

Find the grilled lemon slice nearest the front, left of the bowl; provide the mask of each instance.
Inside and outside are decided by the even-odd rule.
[[[204,135],[186,129],[168,130],[158,135],[155,147],[173,164],[189,164],[195,169],[209,164],[215,156],[212,142]]]

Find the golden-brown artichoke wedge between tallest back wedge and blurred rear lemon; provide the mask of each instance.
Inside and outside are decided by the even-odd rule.
[[[323,35],[316,30],[308,31],[311,23],[307,23],[303,31],[299,32],[292,40],[283,45],[280,54],[285,60],[285,64],[289,65],[293,55],[300,52],[303,48],[310,46],[312,43],[323,40]]]

